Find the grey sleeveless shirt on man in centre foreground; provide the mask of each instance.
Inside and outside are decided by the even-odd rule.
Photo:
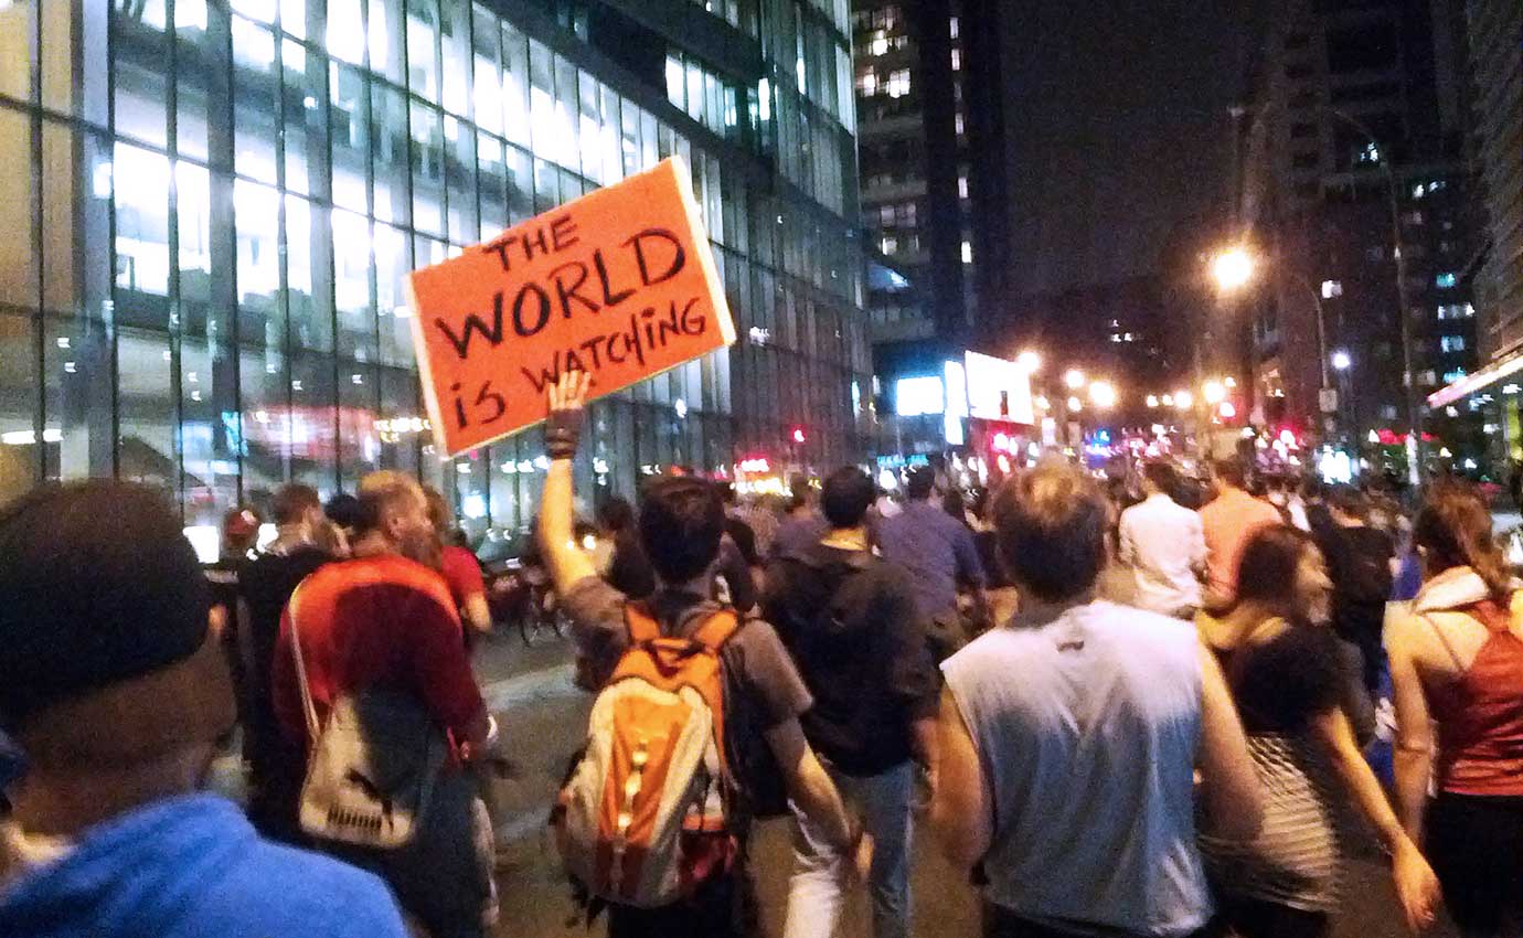
[[[941,665],[993,790],[990,901],[1097,935],[1206,924],[1199,655],[1189,623],[1095,601]]]

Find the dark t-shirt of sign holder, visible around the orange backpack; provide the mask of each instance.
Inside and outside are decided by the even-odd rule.
[[[629,647],[627,601],[629,597],[600,577],[582,579],[562,600],[577,652],[599,679],[606,681],[614,673]],[[658,592],[649,601],[663,630],[675,635],[690,635],[722,609],[719,603],[681,592]],[[777,632],[762,620],[743,621],[719,659],[725,676],[725,749],[731,772],[748,796],[749,813],[778,813],[784,809],[781,770],[765,734],[803,716],[813,697]]]

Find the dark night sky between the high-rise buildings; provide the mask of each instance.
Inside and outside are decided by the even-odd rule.
[[[1228,210],[1258,6],[1007,3],[1016,294],[1151,271],[1176,225]]]

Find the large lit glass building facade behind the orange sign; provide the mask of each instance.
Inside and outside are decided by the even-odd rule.
[[[116,475],[200,527],[396,467],[512,539],[541,434],[433,451],[404,277],[672,154],[740,341],[597,402],[583,490],[856,460],[848,43],[845,0],[0,5],[0,499]]]

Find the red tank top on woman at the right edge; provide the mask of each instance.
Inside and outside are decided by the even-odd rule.
[[[1491,635],[1459,678],[1430,694],[1439,731],[1439,789],[1523,795],[1523,641],[1508,627],[1508,609],[1494,600],[1454,612],[1470,615]],[[1444,633],[1438,635],[1448,647]],[[1448,652],[1454,656],[1451,647]]]

